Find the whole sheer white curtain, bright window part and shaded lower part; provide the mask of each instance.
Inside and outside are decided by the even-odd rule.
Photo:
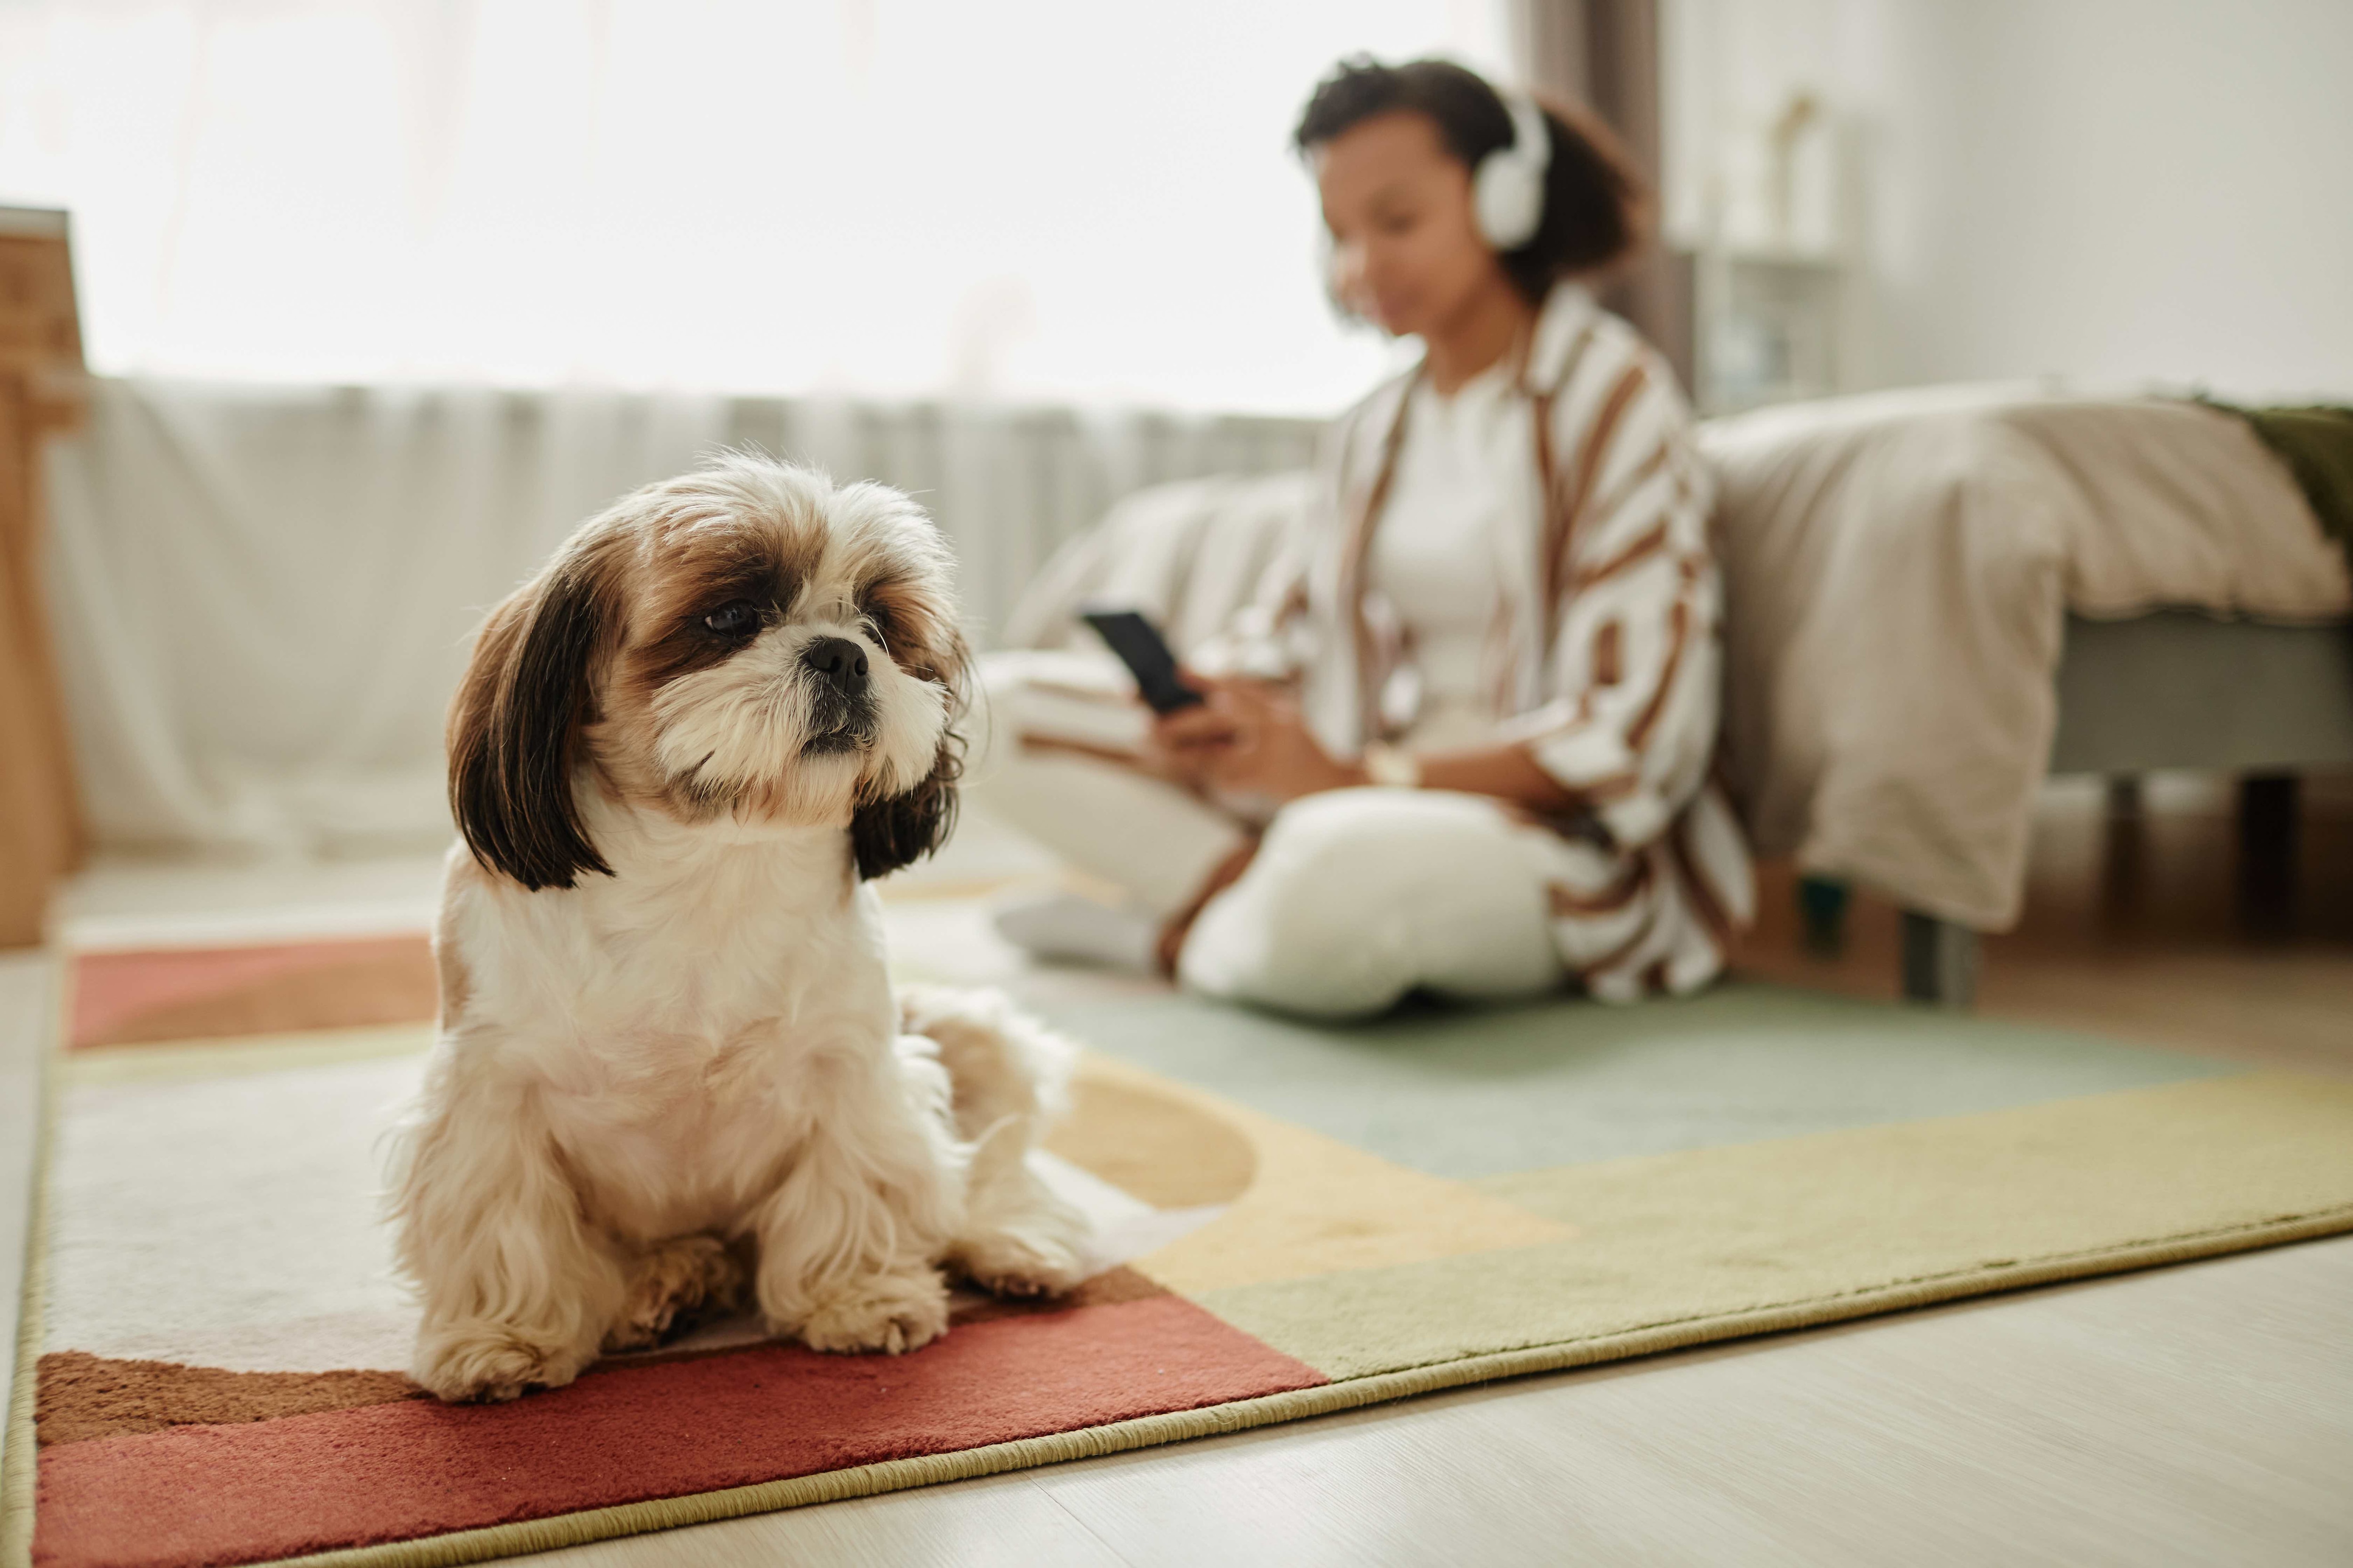
[[[12,0],[0,202],[106,378],[52,465],[101,844],[435,839],[482,609],[746,442],[922,496],[986,639],[1120,494],[1308,461],[1287,150],[1346,52],[1494,0]]]

